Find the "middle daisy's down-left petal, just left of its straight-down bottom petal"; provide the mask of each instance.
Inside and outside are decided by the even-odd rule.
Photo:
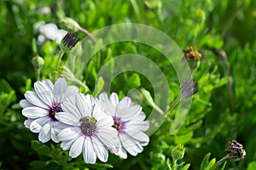
[[[72,144],[69,150],[69,156],[75,158],[82,153],[84,146],[84,136],[80,136],[76,141]]]

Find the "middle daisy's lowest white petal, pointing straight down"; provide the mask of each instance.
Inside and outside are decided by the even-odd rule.
[[[96,153],[93,150],[93,145],[91,143],[90,138],[86,138],[84,141],[83,156],[84,156],[84,161],[86,163],[90,163],[90,164],[96,163]]]

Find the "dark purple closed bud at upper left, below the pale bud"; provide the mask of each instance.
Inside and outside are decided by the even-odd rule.
[[[70,52],[77,42],[79,42],[79,37],[77,34],[68,32],[61,40],[61,50],[65,53]]]

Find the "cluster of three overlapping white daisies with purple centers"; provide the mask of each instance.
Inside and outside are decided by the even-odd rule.
[[[83,153],[86,163],[95,163],[96,157],[108,161],[111,153],[127,157],[137,156],[149,142],[145,132],[149,125],[140,105],[129,97],[119,100],[118,95],[100,94],[98,99],[81,94],[74,86],[67,87],[65,78],[55,84],[49,80],[35,82],[35,92],[27,91],[20,100],[25,126],[39,133],[39,141],[52,139],[61,142],[69,156]]]

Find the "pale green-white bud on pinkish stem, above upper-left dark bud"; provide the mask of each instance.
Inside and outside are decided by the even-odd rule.
[[[67,31],[76,32],[79,31],[80,26],[75,20],[65,17],[60,20],[60,27]]]

